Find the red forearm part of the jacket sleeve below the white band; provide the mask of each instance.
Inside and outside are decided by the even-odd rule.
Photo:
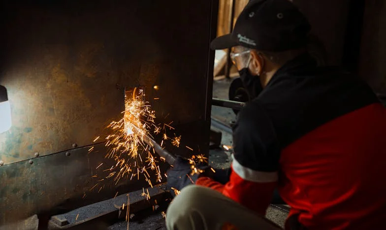
[[[214,181],[210,177],[200,177],[197,185],[210,187],[221,192],[226,197],[265,215],[265,211],[272,200],[273,191],[277,182],[258,183],[241,178],[232,169],[229,182],[225,185]]]

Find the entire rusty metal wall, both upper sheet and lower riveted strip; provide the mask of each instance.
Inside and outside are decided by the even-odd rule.
[[[164,145],[170,152],[208,156],[216,0],[33,2],[0,3],[0,84],[13,119],[0,134],[0,225],[147,185],[90,191],[96,167],[112,162],[103,144],[88,149],[122,116],[125,87],[145,86],[157,121],[174,121],[182,139],[180,148]]]

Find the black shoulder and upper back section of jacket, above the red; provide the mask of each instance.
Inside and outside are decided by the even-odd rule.
[[[308,55],[280,68],[254,101],[270,117],[281,148],[334,118],[379,102],[358,76],[339,67],[317,67]]]

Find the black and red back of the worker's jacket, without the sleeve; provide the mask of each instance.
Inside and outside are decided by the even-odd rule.
[[[386,109],[357,77],[291,61],[255,100],[282,147],[279,191],[308,229],[380,229]]]

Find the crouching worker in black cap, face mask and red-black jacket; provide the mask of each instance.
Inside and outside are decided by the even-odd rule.
[[[227,182],[189,174],[181,157],[168,171],[181,190],[168,230],[279,229],[264,219],[275,188],[290,205],[286,230],[385,228],[386,109],[359,77],[316,65],[310,29],[289,0],[250,0],[232,33],[212,41],[231,48],[256,97],[233,127]]]

